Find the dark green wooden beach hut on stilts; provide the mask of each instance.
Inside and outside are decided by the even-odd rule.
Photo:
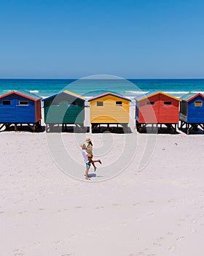
[[[66,129],[67,124],[74,124],[76,129],[84,129],[85,99],[71,91],[62,91],[42,99],[47,131],[55,124],[62,124],[63,129]]]

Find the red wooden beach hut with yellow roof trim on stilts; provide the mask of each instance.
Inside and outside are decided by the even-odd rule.
[[[181,99],[166,94],[162,91],[150,91],[136,99],[136,128],[141,132],[147,124],[156,127],[165,124],[176,132],[176,124],[179,120],[179,102]],[[173,127],[174,126],[174,127]]]

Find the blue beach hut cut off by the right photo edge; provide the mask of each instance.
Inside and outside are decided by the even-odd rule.
[[[181,129],[186,124],[187,134],[191,129],[197,130],[200,126],[204,132],[204,95],[200,93],[189,92],[184,94],[180,103],[180,121]]]

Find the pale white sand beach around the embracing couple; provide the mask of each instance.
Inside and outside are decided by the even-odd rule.
[[[203,255],[204,135],[130,129],[1,132],[0,255]],[[85,137],[103,162],[87,182]]]

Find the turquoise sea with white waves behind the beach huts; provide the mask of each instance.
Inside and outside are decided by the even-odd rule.
[[[113,91],[126,97],[136,97],[141,91],[165,91],[181,97],[188,91],[204,93],[204,79],[1,79],[0,95],[9,91],[27,90],[41,97],[49,97],[63,90],[92,97]]]

